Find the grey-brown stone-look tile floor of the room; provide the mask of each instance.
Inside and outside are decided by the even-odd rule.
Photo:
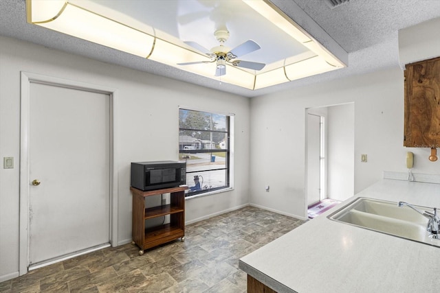
[[[244,207],[186,226],[176,240],[145,250],[126,244],[68,259],[0,283],[0,292],[246,292],[239,258],[303,224]]]

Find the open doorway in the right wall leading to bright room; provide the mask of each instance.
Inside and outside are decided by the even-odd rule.
[[[307,215],[314,218],[354,193],[354,103],[306,110]]]

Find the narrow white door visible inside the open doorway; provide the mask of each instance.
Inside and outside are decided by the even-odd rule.
[[[307,114],[307,205],[320,201],[320,116]]]

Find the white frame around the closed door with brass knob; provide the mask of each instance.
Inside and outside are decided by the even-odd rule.
[[[54,78],[47,75],[21,71],[21,108],[20,108],[20,224],[19,224],[19,275],[26,274],[29,267],[29,196],[30,196],[30,83],[61,86],[69,89],[107,94],[110,97],[110,220],[109,242],[118,246],[118,131],[116,112],[117,90],[109,86],[100,86],[74,80]]]

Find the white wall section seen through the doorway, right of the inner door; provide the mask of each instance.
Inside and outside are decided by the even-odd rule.
[[[354,195],[355,108],[350,103],[327,109],[327,196],[343,201]]]

